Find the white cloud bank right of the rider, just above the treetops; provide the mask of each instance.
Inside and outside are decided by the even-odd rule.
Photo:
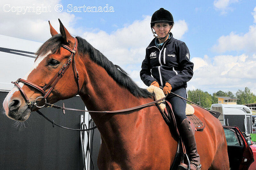
[[[209,58],[192,58],[195,65],[194,76],[188,83],[188,89],[204,89],[209,93],[222,90],[236,92],[249,87],[256,93],[254,70],[256,53],[253,56],[220,55]]]

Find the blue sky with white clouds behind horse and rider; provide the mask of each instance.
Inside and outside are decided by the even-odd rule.
[[[256,94],[255,0],[2,0],[0,35],[44,43],[51,37],[48,20],[60,32],[59,18],[72,35],[86,39],[146,88],[141,62],[154,38],[151,16],[159,8],[172,13],[173,37],[186,43],[194,63],[187,89],[212,94],[249,87]]]

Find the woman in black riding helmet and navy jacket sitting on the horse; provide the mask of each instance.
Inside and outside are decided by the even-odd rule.
[[[193,76],[194,64],[189,61],[190,56],[186,44],[173,38],[170,32],[173,24],[172,14],[164,8],[160,8],[152,15],[150,25],[156,38],[146,48],[140,78],[147,86],[159,87],[161,85],[164,87],[165,95],[172,91],[187,98],[187,81]],[[172,104],[178,129],[189,155],[191,170],[201,169],[195,136],[185,114],[186,101],[172,94],[169,94],[166,100]],[[179,168],[187,169],[187,165],[181,163]]]

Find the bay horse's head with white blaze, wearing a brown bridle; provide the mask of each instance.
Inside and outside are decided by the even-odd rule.
[[[61,21],[60,34],[50,21],[49,24],[52,37],[38,49],[30,71],[22,79],[12,82],[15,86],[4,99],[5,114],[13,120],[27,120],[30,113],[38,109],[35,101],[40,107],[45,101],[55,103],[74,97],[82,86],[80,82],[79,87],[75,64],[75,58],[78,66],[81,63],[76,38],[69,34]]]

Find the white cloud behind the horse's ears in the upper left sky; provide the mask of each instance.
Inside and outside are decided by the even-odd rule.
[[[70,32],[75,32],[72,27],[72,25],[76,22],[75,15],[66,12],[54,11],[54,6],[56,4],[61,4],[60,0],[25,0],[12,2],[9,0],[4,0],[0,2],[1,8],[3,8],[5,4],[10,4],[10,6],[5,6],[5,11],[9,11],[12,7],[14,7],[13,9],[17,9],[17,7],[34,7],[35,12],[32,12],[33,8],[30,8],[31,12],[28,12],[28,10],[25,12],[23,10],[20,12],[20,14],[16,14],[17,12],[12,11],[4,12],[4,9],[1,9],[1,35],[7,35],[21,39],[28,39],[27,37],[29,37],[29,40],[44,42],[47,38],[51,37],[48,20],[50,20],[53,27],[55,27],[55,29],[60,32],[58,18],[60,18],[62,23]],[[42,7],[42,4],[45,7],[44,10],[47,10],[47,12],[36,14],[36,7]],[[49,5],[51,6],[51,12],[46,9]]]

